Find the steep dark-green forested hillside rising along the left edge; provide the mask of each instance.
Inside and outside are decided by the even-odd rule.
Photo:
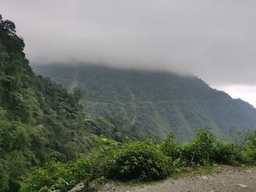
[[[31,166],[68,161],[95,140],[78,92],[32,72],[15,24],[0,15],[0,191],[18,191]]]

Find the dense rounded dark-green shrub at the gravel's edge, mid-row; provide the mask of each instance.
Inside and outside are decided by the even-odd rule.
[[[167,177],[168,158],[151,139],[124,144],[116,153],[110,177],[120,180],[159,180]]]

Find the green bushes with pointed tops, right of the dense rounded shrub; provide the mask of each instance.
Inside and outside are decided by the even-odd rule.
[[[175,166],[252,163],[252,158],[249,157],[250,145],[245,147],[233,142],[221,141],[209,128],[200,128],[195,139],[183,145],[177,145],[173,139],[173,134],[170,134],[162,142],[161,148],[166,155],[173,158]]]

